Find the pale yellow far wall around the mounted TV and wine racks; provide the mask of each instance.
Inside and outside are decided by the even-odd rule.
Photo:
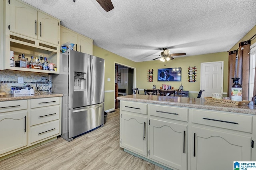
[[[172,68],[172,67],[181,67],[181,83],[183,85],[184,91],[199,91],[200,90],[200,65],[204,62],[212,61],[224,61],[224,90],[227,92],[227,77],[228,77],[228,53],[211,53],[205,55],[194,55],[189,57],[178,57],[173,60],[170,60],[166,63],[155,60],[155,61],[144,61],[137,63],[137,88],[139,89],[152,89],[153,85],[156,85],[156,88],[159,89],[162,87],[162,84],[171,85],[174,89],[179,89],[180,81],[178,82],[168,82],[168,81],[157,81],[157,69],[160,68]],[[164,66],[166,64],[166,66]],[[188,82],[188,67],[196,66],[196,82]],[[153,82],[148,82],[147,80],[147,71],[148,69],[154,69],[153,73]],[[143,91],[140,91],[143,93]],[[197,97],[198,93],[190,93],[190,97]]]

